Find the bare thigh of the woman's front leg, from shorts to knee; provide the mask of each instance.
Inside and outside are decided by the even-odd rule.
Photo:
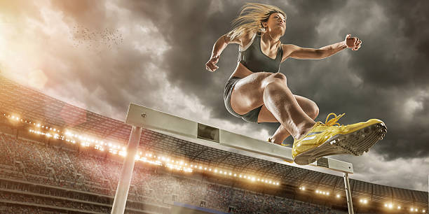
[[[257,72],[238,80],[231,92],[231,108],[243,115],[264,104],[264,79],[269,72]]]

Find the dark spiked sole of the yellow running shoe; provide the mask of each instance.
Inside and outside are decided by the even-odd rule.
[[[328,155],[360,156],[363,155],[363,152],[368,152],[372,145],[383,139],[386,132],[386,125],[381,122],[348,134],[336,134],[318,147],[297,155],[294,162],[299,165],[308,165],[320,157]]]

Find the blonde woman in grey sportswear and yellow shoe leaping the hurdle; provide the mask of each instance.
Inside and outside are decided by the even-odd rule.
[[[280,122],[268,141],[282,145],[292,135],[292,158],[297,164],[311,164],[326,155],[362,155],[383,138],[387,129],[377,119],[344,126],[336,123],[344,114],[337,117],[331,113],[325,124],[315,122],[318,106],[306,97],[292,94],[286,76],[280,73],[280,63],[288,58],[324,59],[346,48],[359,50],[359,38],[348,34],[344,41],[319,49],[282,44],[285,12],[261,3],[246,3],[233,23],[236,27],[214,43],[212,56],[205,64],[207,71],[216,71],[226,46],[239,45],[238,64],[224,90],[229,113],[247,122]],[[328,120],[330,115],[334,118]]]

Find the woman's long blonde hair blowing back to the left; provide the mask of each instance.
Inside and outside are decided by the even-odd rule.
[[[262,3],[245,3],[240,15],[232,20],[233,29],[227,34],[231,40],[243,35],[244,33],[265,33],[262,22],[267,22],[268,17],[273,13],[281,13],[286,18],[286,13],[276,6]]]

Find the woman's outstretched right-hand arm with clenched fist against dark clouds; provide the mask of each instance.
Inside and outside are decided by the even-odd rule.
[[[344,41],[341,41],[339,43],[334,43],[332,45],[327,45],[319,49],[301,48],[297,45],[287,44],[282,46],[283,50],[287,52],[286,55],[283,55],[284,56],[283,60],[287,59],[288,57],[291,57],[294,59],[324,59],[346,48],[352,48],[352,50],[358,50],[361,44],[362,44],[362,41],[360,41],[359,38],[350,37],[350,34],[346,36],[346,39]]]

